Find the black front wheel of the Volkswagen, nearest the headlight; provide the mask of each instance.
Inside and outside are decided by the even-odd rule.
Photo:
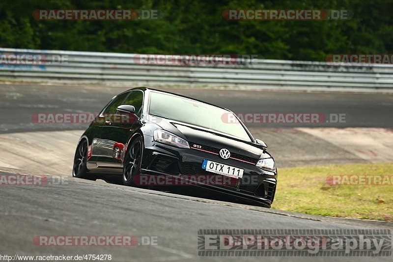
[[[138,136],[127,149],[123,164],[122,180],[124,185],[135,185],[133,179],[139,175],[140,163],[142,161],[142,146],[142,138]]]

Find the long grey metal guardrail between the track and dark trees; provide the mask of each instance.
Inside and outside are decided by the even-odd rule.
[[[393,90],[393,65],[255,59],[232,64],[141,64],[139,54],[0,48],[0,79],[296,90]],[[4,63],[10,55],[38,63]],[[64,58],[62,62],[53,60]]]

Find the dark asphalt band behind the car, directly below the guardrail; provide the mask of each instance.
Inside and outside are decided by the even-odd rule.
[[[0,132],[84,129],[85,124],[34,124],[35,113],[98,113],[112,97],[128,87],[2,84]],[[248,127],[379,127],[392,128],[393,95],[366,93],[274,92],[244,90],[167,89],[235,113],[345,114],[345,123],[253,123]],[[4,114],[5,112],[5,114]]]

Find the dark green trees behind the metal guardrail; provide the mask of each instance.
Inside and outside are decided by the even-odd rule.
[[[346,21],[226,21],[225,9],[349,9]],[[160,20],[39,21],[36,9],[158,9]],[[392,53],[392,0],[2,0],[0,47],[128,53],[244,53],[324,61]]]

